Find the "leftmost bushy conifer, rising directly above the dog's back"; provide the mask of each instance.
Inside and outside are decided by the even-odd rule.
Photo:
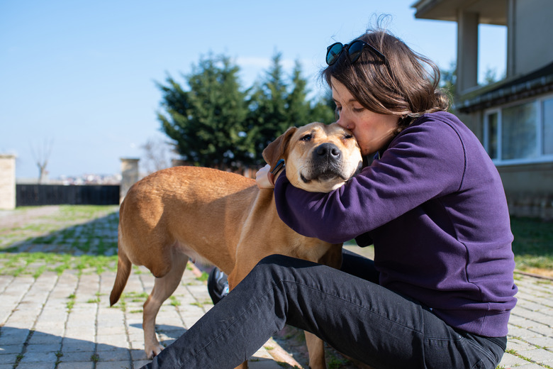
[[[223,169],[251,160],[254,150],[245,140],[246,93],[240,91],[238,72],[228,57],[210,55],[184,76],[189,90],[170,76],[166,85],[158,84],[162,131],[189,163]]]

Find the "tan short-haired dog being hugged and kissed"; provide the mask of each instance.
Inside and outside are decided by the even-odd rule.
[[[289,128],[267,146],[263,158],[272,167],[284,159],[290,182],[311,192],[342,186],[362,165],[357,142],[336,123]],[[334,268],[342,263],[341,244],[301,236],[279,219],[272,189],[203,167],[172,167],[135,183],[121,204],[118,231],[111,305],[123,292],[131,263],[145,265],[156,277],[143,312],[149,358],[163,348],[155,336],[155,317],[178,287],[189,258],[223,270],[231,290],[259,260],[272,254]],[[306,341],[311,368],[325,368],[323,341],[308,332]],[[238,368],[247,368],[247,362]]]

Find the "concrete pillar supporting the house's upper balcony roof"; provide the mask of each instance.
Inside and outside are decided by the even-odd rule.
[[[457,15],[457,94],[478,86],[478,13]]]

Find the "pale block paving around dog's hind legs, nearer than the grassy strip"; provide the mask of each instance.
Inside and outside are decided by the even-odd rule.
[[[32,276],[0,276],[0,368],[140,368],[143,351],[142,304],[153,287],[147,270],[135,270],[123,301],[110,308],[115,273],[65,270]],[[172,299],[162,306],[157,331],[171,343],[210,307],[206,286],[186,272]],[[269,347],[271,343],[267,343]],[[250,368],[281,368],[267,348]]]

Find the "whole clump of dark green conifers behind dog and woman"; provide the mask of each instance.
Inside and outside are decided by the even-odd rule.
[[[258,167],[264,164],[264,148],[289,127],[335,121],[331,98],[311,106],[299,62],[286,78],[277,53],[264,79],[247,90],[241,89],[238,72],[228,57],[210,56],[183,76],[188,89],[170,76],[157,84],[162,131],[192,165]]]

